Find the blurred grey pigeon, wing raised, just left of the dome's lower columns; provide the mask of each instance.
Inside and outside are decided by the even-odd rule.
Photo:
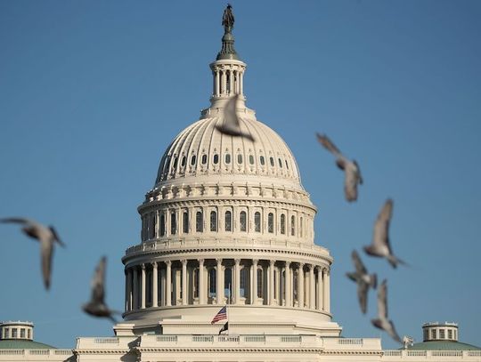
[[[92,298],[82,306],[87,314],[99,318],[110,318],[110,320],[117,324],[117,320],[112,317],[112,314],[120,314],[117,310],[110,310],[104,302],[105,298],[105,265],[107,258],[102,256],[101,261],[97,265],[92,278]]]

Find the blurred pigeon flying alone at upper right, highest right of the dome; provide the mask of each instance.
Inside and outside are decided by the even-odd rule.
[[[336,165],[344,171],[344,194],[348,202],[357,200],[357,185],[363,184],[361,169],[355,160],[347,159],[325,134],[317,135],[317,141],[336,157]]]

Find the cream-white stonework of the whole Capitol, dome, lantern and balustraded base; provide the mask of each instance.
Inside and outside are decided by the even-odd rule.
[[[479,350],[382,350],[380,339],[340,337],[330,313],[333,259],[314,244],[316,208],[296,160],[246,107],[246,64],[222,59],[210,68],[211,107],[168,146],[138,208],[141,243],[122,259],[124,321],[115,337],[78,338],[74,359],[481,361]],[[215,128],[233,94],[254,142]],[[225,321],[211,320],[226,304],[228,334],[218,335]],[[0,361],[70,357],[47,351],[0,350]]]

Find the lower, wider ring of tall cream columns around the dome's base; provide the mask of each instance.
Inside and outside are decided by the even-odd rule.
[[[153,261],[126,269],[126,311],[225,303],[330,312],[330,272],[257,259]]]

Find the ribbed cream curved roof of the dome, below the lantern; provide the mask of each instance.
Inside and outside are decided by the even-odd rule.
[[[216,125],[222,125],[224,120],[222,109],[207,109],[205,118],[185,128],[167,148],[160,161],[156,187],[161,181],[179,178],[187,183],[186,179],[201,175],[239,174],[243,175],[242,181],[252,175],[258,182],[265,176],[268,182],[302,189],[298,165],[286,143],[257,121],[251,109],[238,112],[245,115],[240,117],[241,131],[251,134],[254,142],[217,131]]]

